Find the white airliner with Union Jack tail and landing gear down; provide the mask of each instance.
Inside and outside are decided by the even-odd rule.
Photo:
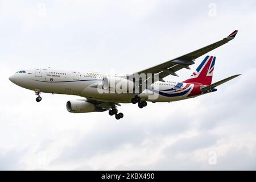
[[[109,115],[121,119],[123,113],[118,113],[117,109],[117,106],[121,106],[120,103],[138,104],[139,108],[143,108],[147,106],[147,102],[193,98],[216,92],[218,85],[240,76],[241,74],[230,76],[212,84],[216,56],[206,56],[187,80],[174,82],[163,79],[169,75],[177,76],[176,72],[180,69],[190,69],[189,65],[195,64],[198,57],[233,40],[237,32],[233,31],[226,38],[209,46],[130,75],[35,68],[18,71],[9,80],[22,88],[34,90],[37,102],[42,101],[42,92],[81,96],[85,99],[67,102],[66,107],[70,113],[108,111]],[[143,74],[145,77],[140,76]],[[143,86],[144,83],[146,87]]]

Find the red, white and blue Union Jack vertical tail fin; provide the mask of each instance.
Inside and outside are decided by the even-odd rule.
[[[191,77],[183,82],[197,82],[203,85],[210,85],[212,83],[215,59],[216,57],[214,56],[206,56],[199,67],[196,68],[196,71],[192,73]]]

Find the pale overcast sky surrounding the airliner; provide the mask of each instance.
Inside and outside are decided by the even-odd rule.
[[[0,1],[0,169],[256,169],[255,1]],[[116,72],[151,67],[221,40],[201,97],[122,104],[125,116],[72,114],[78,96],[31,90],[8,77],[26,68]],[[183,81],[192,70],[177,72]]]

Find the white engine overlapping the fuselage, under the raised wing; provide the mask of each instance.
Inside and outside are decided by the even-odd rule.
[[[102,80],[102,89],[115,92],[129,92],[134,89],[134,82],[120,77],[105,77]]]

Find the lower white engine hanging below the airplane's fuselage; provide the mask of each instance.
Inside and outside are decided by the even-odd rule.
[[[96,111],[105,111],[105,109],[102,107],[98,107],[85,100],[68,101],[66,107],[69,113],[90,113]]]

